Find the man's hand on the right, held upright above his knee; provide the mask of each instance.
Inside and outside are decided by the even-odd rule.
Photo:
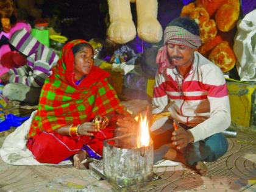
[[[174,132],[172,132],[172,144],[177,146],[177,149],[185,148],[189,143],[194,141],[194,137],[190,130],[185,130],[181,126],[177,126],[174,122]]]

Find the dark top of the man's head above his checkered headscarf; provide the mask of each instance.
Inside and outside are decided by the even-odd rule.
[[[200,35],[199,26],[194,20],[190,20],[190,18],[186,17],[178,17],[172,20],[166,27],[168,26],[177,26],[182,27],[183,29],[188,30],[191,34]]]

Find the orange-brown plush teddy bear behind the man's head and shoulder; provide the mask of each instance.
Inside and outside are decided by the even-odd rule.
[[[239,0],[196,0],[185,5],[180,13],[199,24],[202,40],[199,52],[218,65],[223,73],[235,66],[230,37],[239,13]]]

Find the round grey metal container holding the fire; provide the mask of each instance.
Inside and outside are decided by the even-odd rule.
[[[152,141],[149,146],[143,148],[136,148],[136,146],[123,148],[126,146],[124,143],[134,141],[134,137],[123,135],[104,141],[104,174],[108,182],[119,188],[144,185],[154,175]]]

